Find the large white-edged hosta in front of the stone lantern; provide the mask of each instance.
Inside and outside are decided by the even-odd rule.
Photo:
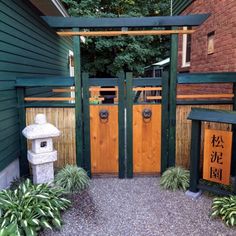
[[[70,206],[64,190],[29,179],[17,189],[0,192],[0,236],[37,235],[43,228],[61,227],[61,211]]]

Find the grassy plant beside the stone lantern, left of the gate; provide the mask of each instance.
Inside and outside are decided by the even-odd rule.
[[[81,192],[89,185],[89,177],[83,168],[66,165],[55,177],[55,184],[69,193]]]

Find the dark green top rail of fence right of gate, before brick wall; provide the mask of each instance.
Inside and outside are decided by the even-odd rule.
[[[178,74],[178,84],[204,83],[236,83],[236,72]]]

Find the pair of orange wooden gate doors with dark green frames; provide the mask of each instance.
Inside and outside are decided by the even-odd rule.
[[[159,174],[164,167],[162,79],[135,79],[131,73],[118,78],[89,78],[84,73],[82,81],[83,164],[88,173],[120,178]],[[108,91],[115,94],[106,96],[110,96],[110,103],[101,97]]]

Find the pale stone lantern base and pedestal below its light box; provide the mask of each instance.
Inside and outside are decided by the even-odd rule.
[[[50,183],[54,180],[53,162],[57,160],[57,151],[36,154],[28,151],[28,161],[32,165],[33,183]]]

